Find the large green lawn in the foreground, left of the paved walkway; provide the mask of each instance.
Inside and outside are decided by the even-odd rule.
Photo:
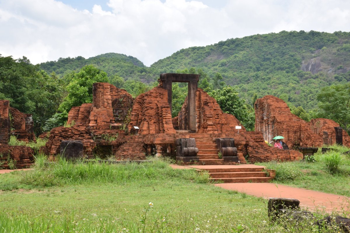
[[[318,232],[309,221],[270,223],[265,199],[214,187],[205,173],[171,169],[166,161],[87,163],[87,169],[81,162],[38,160],[32,171],[0,175],[0,187],[8,187],[0,191],[0,233],[125,233],[144,227],[145,232]],[[38,170],[50,170],[59,182],[26,183],[23,177],[37,177]],[[93,172],[96,178],[86,174]]]

